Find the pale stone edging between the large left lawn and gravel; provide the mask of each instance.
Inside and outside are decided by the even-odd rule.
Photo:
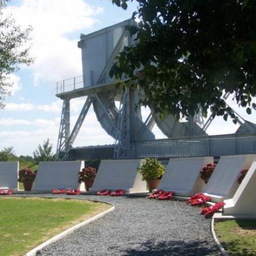
[[[88,225],[90,222],[96,221],[99,218],[104,217],[106,214],[112,212],[115,209],[114,205],[112,205],[112,207],[108,210],[105,210],[102,213],[97,214],[96,216],[93,216],[92,218],[89,218],[86,221],[83,221],[79,224],[76,224],[75,226],[72,226],[71,228],[61,232],[60,234],[57,234],[56,236],[50,238],[49,240],[47,240],[46,242],[41,243],[39,246],[36,246],[34,249],[32,249],[31,251],[28,251],[28,253],[26,253],[24,256],[35,256],[36,252],[38,250],[43,249],[43,247],[50,245],[53,242],[56,242],[58,240],[60,240],[61,238],[68,236],[69,234],[73,233],[76,229],[81,228],[82,226]]]

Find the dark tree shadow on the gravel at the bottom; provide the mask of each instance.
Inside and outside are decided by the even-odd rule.
[[[149,240],[144,243],[134,244],[135,249],[127,249],[122,252],[126,256],[205,256],[205,255],[221,255],[217,246],[208,241],[168,241],[156,243]]]

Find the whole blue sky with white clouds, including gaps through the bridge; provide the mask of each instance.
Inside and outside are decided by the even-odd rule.
[[[35,63],[20,67],[10,77],[14,82],[12,96],[6,98],[6,108],[0,110],[0,150],[13,146],[17,155],[31,155],[47,138],[57,143],[62,102],[55,97],[56,81],[82,74],[81,52],[77,48],[80,34],[129,19],[137,9],[130,3],[123,11],[110,0],[13,0],[5,12],[13,15],[22,27],[29,24],[31,55]],[[71,127],[74,125],[85,98],[71,101]],[[234,106],[233,102],[229,102]],[[238,109],[245,116],[245,111]],[[146,116],[148,109],[143,110]],[[255,113],[246,116],[253,121]],[[232,133],[237,129],[221,118],[214,120],[209,134]],[[154,127],[156,138],[164,138]],[[113,143],[114,139],[101,128],[91,109],[85,118],[74,146]]]

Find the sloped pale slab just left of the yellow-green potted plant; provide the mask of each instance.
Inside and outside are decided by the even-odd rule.
[[[146,181],[137,172],[140,159],[102,160],[90,192],[123,189],[126,193],[146,192]]]

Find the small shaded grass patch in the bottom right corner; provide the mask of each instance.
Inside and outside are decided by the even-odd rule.
[[[256,255],[256,220],[215,222],[216,235],[230,256]]]

